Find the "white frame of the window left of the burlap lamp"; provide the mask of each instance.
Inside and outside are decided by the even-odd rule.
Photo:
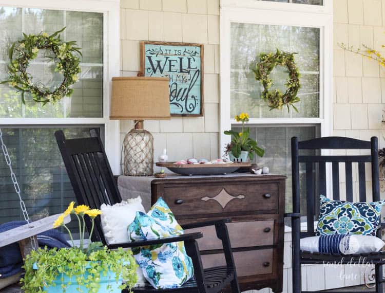
[[[0,6],[103,13],[103,117],[0,118],[0,126],[104,125],[104,147],[114,174],[120,174],[119,120],[110,120],[111,79],[120,76],[119,0],[0,0]]]

